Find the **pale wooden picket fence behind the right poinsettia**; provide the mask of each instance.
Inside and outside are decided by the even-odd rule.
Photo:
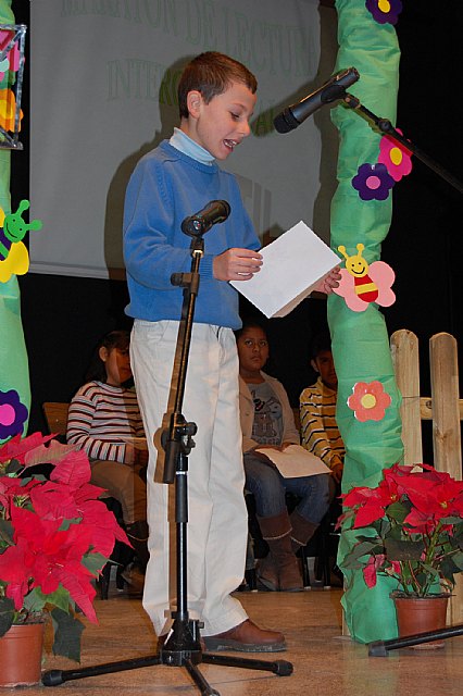
[[[390,339],[398,387],[402,394],[401,418],[404,463],[423,462],[422,421],[433,421],[434,463],[462,478],[461,419],[463,399],[459,397],[456,339],[450,334],[435,334],[429,339],[430,397],[421,396],[418,340],[402,328]],[[449,602],[449,624],[463,623],[463,575],[458,576]]]

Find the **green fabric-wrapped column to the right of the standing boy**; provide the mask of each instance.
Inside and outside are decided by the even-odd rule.
[[[356,67],[360,80],[352,94],[370,111],[396,120],[399,48],[390,24],[378,24],[365,8],[365,0],[337,0],[339,52],[336,70]],[[349,256],[356,244],[365,245],[363,257],[368,264],[379,260],[392,211],[392,197],[364,201],[352,186],[361,164],[378,160],[380,135],[353,110],[342,105],[331,111],[339,129],[338,188],[331,203],[331,247],[345,245]],[[374,486],[381,471],[403,456],[400,394],[393,375],[389,338],[384,316],[376,304],[366,311],[350,310],[343,298],[328,300],[328,322],[333,353],[338,374],[337,420],[346,445],[342,490],[359,485]],[[360,422],[347,400],[358,382],[379,381],[392,402],[380,421]],[[354,543],[356,534],[343,531],[338,563]],[[343,569],[342,569],[343,570]],[[342,598],[346,621],[352,637],[362,643],[397,636],[396,612],[389,593],[397,585],[378,577],[368,589],[361,571],[343,570],[346,593]]]

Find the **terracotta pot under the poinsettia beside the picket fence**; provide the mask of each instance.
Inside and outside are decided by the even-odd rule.
[[[399,636],[427,633],[446,627],[449,597],[395,597]],[[429,650],[443,648],[443,641],[433,641],[413,646]]]

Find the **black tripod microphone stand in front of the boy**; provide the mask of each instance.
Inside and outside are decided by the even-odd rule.
[[[238,667],[241,669],[262,670],[273,672],[278,676],[289,676],[292,673],[291,662],[275,660],[273,662],[254,660],[228,655],[213,655],[202,652],[200,631],[202,623],[189,618],[187,608],[187,522],[188,522],[188,490],[187,472],[188,455],[195,446],[192,435],[197,433],[197,425],[187,422],[182,414],[182,406],[185,393],[185,381],[188,369],[188,356],[191,341],[191,331],[195,315],[196,297],[199,291],[199,265],[204,253],[204,240],[202,235],[208,232],[211,224],[198,221],[196,225],[186,232],[192,237],[191,270],[190,273],[174,273],[171,277],[172,285],[184,288],[184,301],[182,307],[182,320],[177,334],[176,355],[180,351],[178,375],[173,371],[173,380],[176,377],[176,393],[174,411],[171,414],[170,426],[161,436],[165,450],[165,463],[163,483],[175,483],[175,523],[176,523],[176,581],[177,581],[177,610],[171,613],[173,619],[172,630],[160,652],[153,656],[107,662],[77,670],[51,670],[42,675],[45,686],[58,686],[63,682],[97,676],[111,672],[134,670],[142,667],[166,664],[170,667],[185,667],[196,686],[204,696],[220,696],[218,692],[210,686],[198,669],[198,664],[220,664],[225,667]],[[174,387],[175,388],[175,387]]]

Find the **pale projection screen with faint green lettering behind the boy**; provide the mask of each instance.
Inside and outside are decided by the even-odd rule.
[[[328,240],[329,109],[285,135],[273,119],[333,73],[334,10],[317,0],[34,0],[28,40],[30,214],[43,222],[30,235],[32,272],[123,276],[127,181],[178,125],[182,67],[205,50],[258,77],[253,133],[224,166],[263,241],[299,220]]]

